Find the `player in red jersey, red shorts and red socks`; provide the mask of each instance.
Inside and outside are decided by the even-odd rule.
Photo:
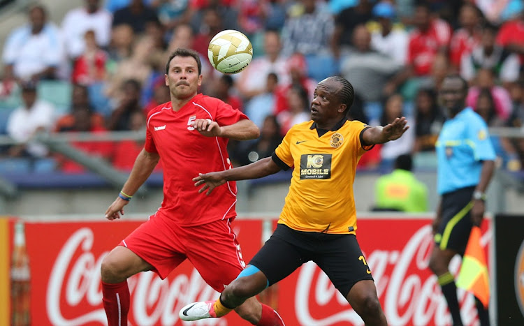
[[[102,262],[103,306],[109,325],[127,325],[126,279],[138,272],[152,270],[164,279],[187,258],[214,290],[222,292],[245,268],[231,228],[236,216],[235,182],[196,200],[191,178],[202,171],[230,169],[228,139],[258,138],[259,128],[231,105],[198,94],[201,61],[193,50],[175,50],[165,77],[171,101],[147,114],[144,148],[122,191],[105,212],[109,220],[120,218],[124,206],[162,158],[161,207]],[[217,252],[221,254],[215,255]],[[284,325],[276,311],[256,299],[236,312],[253,325]]]

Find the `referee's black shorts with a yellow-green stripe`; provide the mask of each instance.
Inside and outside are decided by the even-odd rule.
[[[440,249],[464,255],[473,226],[470,212],[474,190],[472,186],[442,195],[442,219],[435,235],[435,244]]]

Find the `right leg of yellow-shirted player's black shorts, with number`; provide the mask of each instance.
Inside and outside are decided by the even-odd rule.
[[[373,281],[371,269],[355,235],[333,235],[333,239],[319,246],[313,261],[344,297],[358,281]]]

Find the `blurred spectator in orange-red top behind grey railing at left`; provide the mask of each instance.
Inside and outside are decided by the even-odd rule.
[[[71,110],[71,114],[64,117],[59,121],[59,124],[55,127],[57,132],[85,132],[85,133],[105,133],[106,129],[99,124],[100,117],[96,113],[92,112],[89,106],[80,105],[74,107]],[[107,141],[72,141],[69,143],[71,147],[83,151],[89,156],[97,156],[110,160],[112,154],[112,143]],[[82,173],[85,172],[85,168],[75,161],[72,161],[65,156],[58,154],[56,156],[57,165],[59,170],[65,173]]]

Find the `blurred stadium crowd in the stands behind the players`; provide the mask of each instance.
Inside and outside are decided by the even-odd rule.
[[[405,115],[412,126],[364,155],[362,169],[435,150],[446,119],[437,94],[450,72],[470,83],[467,104],[488,126],[523,127],[522,0],[85,0],[59,25],[42,5],[27,17],[3,46],[0,131],[20,145],[1,156],[52,158],[63,172],[84,168],[31,138],[38,131],[140,131],[147,112],[170,99],[165,64],[177,47],[201,54],[203,94],[261,128],[259,140],[230,143],[237,165],[270,155],[293,124],[310,120],[314,87],[329,75],[354,85],[351,119],[376,126]],[[237,75],[208,61],[208,44],[224,29],[242,31],[254,47]],[[492,140],[502,168],[521,170],[524,140]],[[131,169],[143,146],[71,145],[120,170]]]

